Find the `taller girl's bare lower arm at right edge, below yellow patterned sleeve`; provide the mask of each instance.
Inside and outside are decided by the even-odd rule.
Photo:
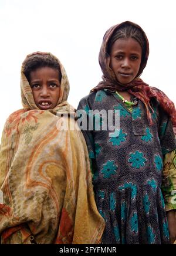
[[[167,220],[168,220],[168,229],[170,232],[170,241],[171,244],[174,244],[176,240],[176,211],[171,210],[167,212]]]

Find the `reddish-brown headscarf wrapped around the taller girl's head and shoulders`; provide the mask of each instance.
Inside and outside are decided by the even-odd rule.
[[[123,84],[120,84],[119,81],[117,81],[116,76],[113,72],[113,70],[110,68],[110,56],[107,53],[107,49],[109,46],[109,42],[114,34],[114,31],[116,31],[118,28],[121,27],[121,25],[133,25],[134,27],[141,30],[144,40],[145,40],[145,52],[143,59],[141,61],[140,69],[138,71],[138,74],[136,78],[131,81],[131,83],[126,84],[125,86]],[[144,83],[139,76],[143,72],[145,65],[147,64],[148,60],[148,54],[149,54],[149,43],[147,40],[147,36],[145,35],[145,32],[143,29],[133,22],[125,21],[121,24],[114,25],[113,27],[110,27],[103,37],[103,42],[101,44],[100,53],[99,53],[99,64],[101,67],[101,70],[103,72],[103,81],[100,81],[100,83],[92,89],[94,90],[103,90],[103,89],[109,89],[111,91],[128,91],[128,93],[134,95],[141,101],[143,101],[145,108],[147,110],[147,117],[148,122],[152,124],[151,120],[151,113],[153,112],[153,109],[150,106],[150,99],[154,97],[158,100],[160,103],[160,106],[163,108],[164,111],[168,113],[168,115],[171,118],[172,124],[174,127],[176,127],[176,111],[174,103],[168,97],[163,93],[163,91],[155,88],[150,87],[148,84]],[[151,110],[151,111],[150,111]]]

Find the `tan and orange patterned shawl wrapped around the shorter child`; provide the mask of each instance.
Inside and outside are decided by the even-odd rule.
[[[35,53],[34,53],[35,54]],[[38,52],[38,54],[46,54]],[[53,55],[52,55],[53,56]],[[57,106],[40,110],[21,70],[23,109],[9,116],[0,152],[0,236],[2,244],[96,244],[104,220],[94,201],[89,156],[67,103],[63,65]],[[60,116],[59,114],[68,114]],[[68,124],[69,123],[69,124]]]

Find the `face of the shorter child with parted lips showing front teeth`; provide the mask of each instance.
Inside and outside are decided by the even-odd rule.
[[[29,84],[39,109],[56,107],[60,93],[59,70],[51,67],[37,68],[31,71]]]

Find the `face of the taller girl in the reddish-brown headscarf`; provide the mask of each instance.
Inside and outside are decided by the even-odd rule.
[[[142,57],[141,45],[133,38],[119,38],[111,47],[110,67],[121,84],[137,76]]]

